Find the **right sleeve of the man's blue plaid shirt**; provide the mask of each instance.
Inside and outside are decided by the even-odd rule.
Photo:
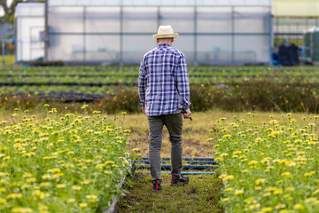
[[[184,55],[182,54],[179,59],[177,72],[177,91],[180,96],[180,107],[182,107],[185,111],[190,109],[190,83],[189,83],[189,75],[187,72],[187,64]]]

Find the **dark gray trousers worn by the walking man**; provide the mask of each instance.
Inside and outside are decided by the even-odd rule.
[[[150,129],[150,165],[152,182],[161,183],[160,179],[160,148],[162,142],[163,126],[167,127],[169,132],[169,140],[171,142],[171,162],[172,162],[172,178],[177,178],[182,171],[182,130],[183,130],[183,115],[177,114],[162,114],[157,116],[147,116]]]

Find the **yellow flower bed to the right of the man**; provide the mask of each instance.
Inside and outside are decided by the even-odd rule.
[[[270,115],[260,126],[254,116],[219,119],[209,139],[216,141],[226,212],[318,212],[318,117],[301,124],[290,113]]]

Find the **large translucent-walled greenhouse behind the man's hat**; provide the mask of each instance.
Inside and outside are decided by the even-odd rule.
[[[271,0],[48,0],[44,16],[50,61],[138,64],[156,46],[159,25],[168,24],[190,64],[270,61]]]

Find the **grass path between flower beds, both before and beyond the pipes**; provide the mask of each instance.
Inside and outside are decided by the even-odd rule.
[[[280,120],[285,113],[261,113],[254,116],[245,113],[231,113],[221,111],[208,111],[206,113],[192,114],[193,122],[187,120],[183,123],[183,157],[214,157],[214,141],[211,130],[214,122],[221,117],[226,122],[233,122],[234,116],[239,119],[253,119],[256,124],[269,120]],[[310,117],[315,114],[292,114],[299,123],[313,122]],[[148,155],[148,122],[144,114],[131,114],[125,118],[125,128],[131,130],[129,148],[139,148],[139,156]],[[170,144],[168,132],[163,130],[162,157],[170,157]],[[171,187],[170,176],[163,175],[162,192],[152,193],[150,175],[137,174],[132,180],[133,185],[126,188],[128,191],[120,200],[120,212],[223,212],[219,199],[222,192],[222,181],[216,175],[190,176],[191,182],[185,187]]]

